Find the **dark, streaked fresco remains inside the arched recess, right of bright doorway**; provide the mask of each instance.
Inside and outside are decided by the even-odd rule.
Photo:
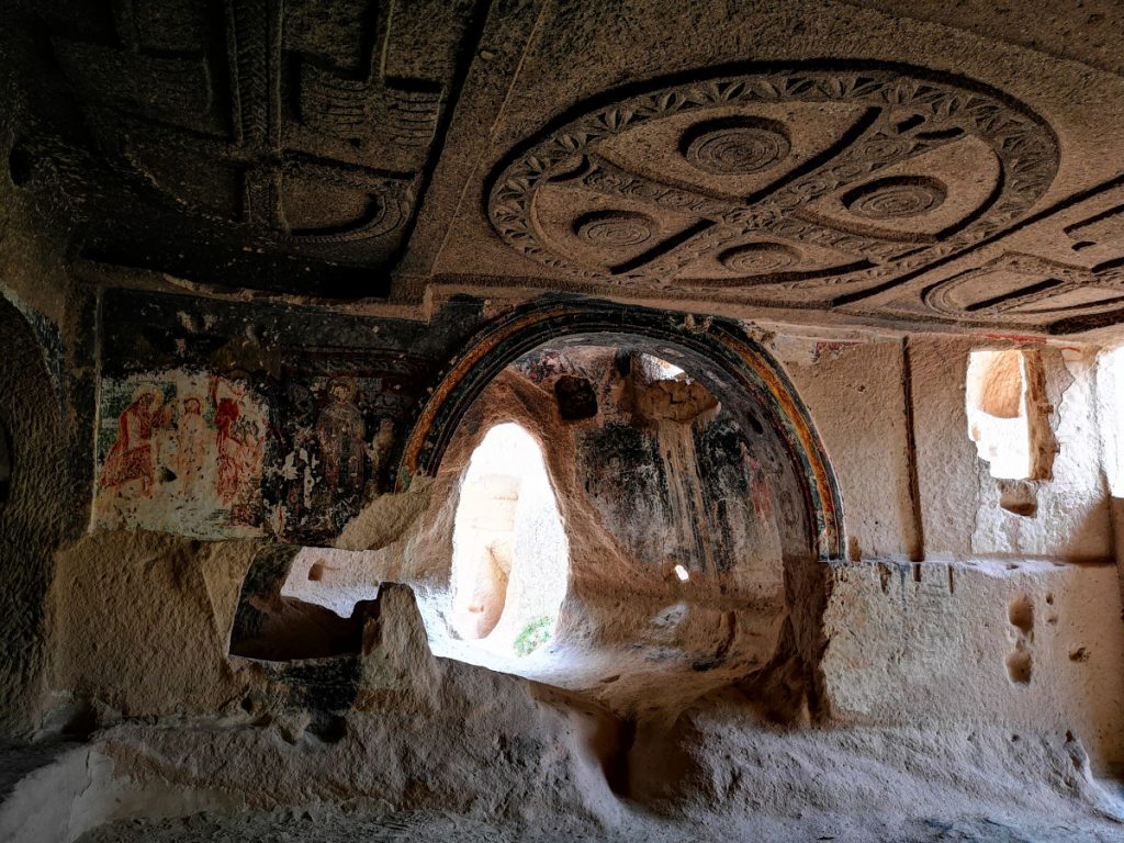
[[[741,593],[777,587],[805,555],[807,510],[776,435],[688,374],[635,350],[536,351],[516,370],[553,389],[560,416],[580,381],[593,415],[571,422],[580,483],[601,523],[645,565],[681,564]],[[559,389],[566,384],[565,391]]]

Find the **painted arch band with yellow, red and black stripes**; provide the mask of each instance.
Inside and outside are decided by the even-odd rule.
[[[741,393],[779,433],[801,478],[814,525],[810,546],[822,560],[843,558],[843,509],[835,474],[807,408],[780,365],[734,323],[672,315],[610,302],[535,303],[492,324],[452,361],[422,406],[397,466],[397,488],[435,475],[472,402],[510,363],[535,347],[580,337],[656,341],[722,372],[720,400]]]

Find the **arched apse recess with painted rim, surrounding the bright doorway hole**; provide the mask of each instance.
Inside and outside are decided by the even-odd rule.
[[[439,655],[593,690],[620,708],[818,658],[819,562],[842,546],[834,478],[791,384],[740,327],[552,302],[483,332],[400,454],[399,488],[434,478],[426,547],[445,541],[441,525],[472,488],[471,455],[505,423],[542,444],[570,546],[556,634],[518,662],[443,641],[434,629],[457,625],[446,568],[454,596],[429,613],[446,618],[430,625]],[[439,570],[427,552],[418,568]],[[478,606],[488,619],[473,634],[487,637],[502,615],[499,591],[490,614]]]

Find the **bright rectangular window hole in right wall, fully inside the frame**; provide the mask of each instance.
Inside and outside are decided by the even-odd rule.
[[[1017,350],[972,352],[966,386],[968,435],[991,477],[1031,477],[1026,355]]]

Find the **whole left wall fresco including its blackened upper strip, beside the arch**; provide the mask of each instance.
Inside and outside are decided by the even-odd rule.
[[[473,300],[430,324],[107,292],[93,525],[323,544],[386,482],[395,435]]]

